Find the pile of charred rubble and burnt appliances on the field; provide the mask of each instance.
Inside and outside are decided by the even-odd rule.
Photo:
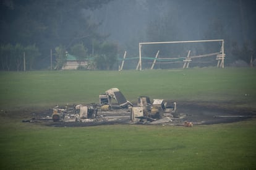
[[[184,115],[177,113],[176,102],[167,103],[140,96],[136,106],[126,100],[118,88],[99,95],[99,104],[77,104],[52,109],[53,122],[126,122],[130,124],[182,124]],[[116,101],[114,103],[113,101]],[[49,117],[48,117],[49,119]],[[188,126],[188,127],[191,127]]]

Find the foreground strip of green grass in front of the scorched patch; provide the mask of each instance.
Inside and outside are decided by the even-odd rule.
[[[1,169],[255,169],[255,123],[41,127],[1,124]]]

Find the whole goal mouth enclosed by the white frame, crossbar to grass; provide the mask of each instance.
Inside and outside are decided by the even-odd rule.
[[[139,43],[137,70],[224,67],[224,40]]]

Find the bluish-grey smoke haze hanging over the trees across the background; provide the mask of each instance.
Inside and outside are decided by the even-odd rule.
[[[115,55],[122,57],[127,51],[138,56],[139,42],[145,41],[224,39],[229,62],[243,59],[249,63],[256,57],[254,0],[0,2],[0,43],[38,48],[30,63],[33,69],[49,67],[50,49],[61,46],[70,51],[75,45],[84,45],[86,55],[98,62],[98,69],[115,69]],[[97,42],[95,46],[93,42]],[[208,51],[210,47],[201,48]],[[171,53],[166,46],[155,46],[144,53],[155,55],[157,49]],[[182,53],[187,49],[178,50]]]

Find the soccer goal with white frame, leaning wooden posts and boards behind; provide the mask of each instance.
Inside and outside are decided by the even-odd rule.
[[[215,50],[215,51],[207,51],[207,48],[205,48],[206,50],[204,51],[200,51],[200,50],[196,50],[197,52],[191,52],[190,49],[188,49],[189,47],[192,46],[192,44],[195,43],[200,43],[201,45],[207,46],[208,43],[208,47],[211,46],[211,44],[209,43],[217,43],[217,47],[216,48],[211,48],[211,50]],[[184,54],[182,55],[177,55],[177,56],[172,56],[172,57],[159,57],[161,51],[158,50],[155,54],[155,57],[145,57],[142,55],[142,46],[146,46],[146,45],[178,45],[181,44],[182,46],[186,46],[186,44],[189,46],[186,46],[186,56]],[[183,48],[184,51],[185,48]],[[208,52],[208,53],[207,53]],[[202,58],[206,58],[206,57],[210,57],[210,59],[203,59]],[[213,58],[215,57],[215,58]],[[189,67],[190,63],[193,62],[197,62],[197,63],[202,63],[202,62],[213,62],[217,61],[217,67],[221,67],[224,68],[224,40],[195,40],[195,41],[166,41],[166,42],[146,42],[146,43],[139,43],[139,62],[137,64],[136,69],[137,70],[142,70],[142,62],[147,61],[147,63],[151,63],[151,66],[149,67],[150,69],[153,69],[155,67],[155,64],[177,64],[177,63],[182,63],[183,65],[183,69],[186,69]]]

